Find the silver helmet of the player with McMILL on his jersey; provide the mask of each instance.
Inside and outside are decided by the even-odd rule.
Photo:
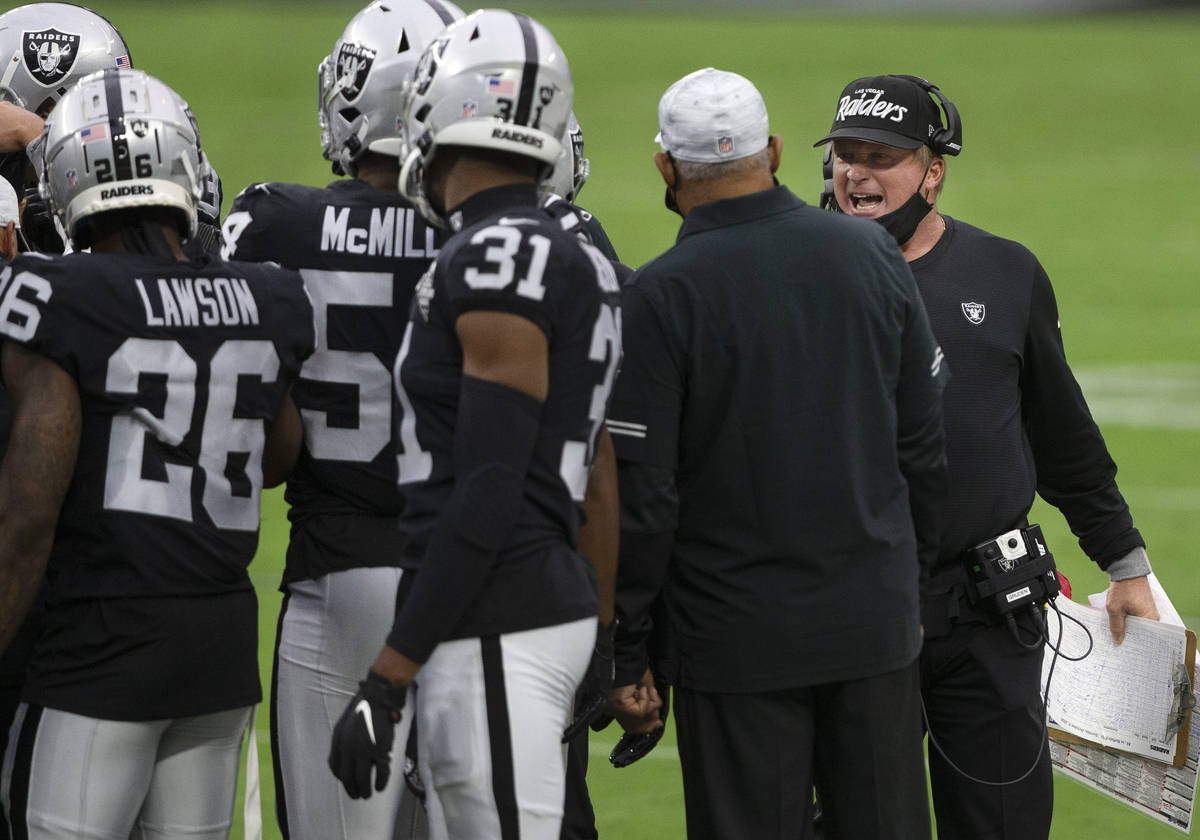
[[[354,16],[317,68],[317,118],[325,160],[355,174],[367,150],[400,156],[400,90],[421,50],[462,18],[445,0],[377,0]]]

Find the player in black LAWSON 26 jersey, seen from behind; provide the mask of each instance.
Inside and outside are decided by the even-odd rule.
[[[162,82],[85,77],[41,149],[91,253],[0,272],[0,649],[49,587],[0,802],[14,836],[224,838],[262,696],[246,566],[299,452],[312,305],[293,271],[186,259],[199,148]]]

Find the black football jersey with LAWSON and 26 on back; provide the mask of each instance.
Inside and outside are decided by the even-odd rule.
[[[0,334],[79,388],[53,599],[250,590],[266,428],[314,342],[299,275],[29,254],[0,272]]]

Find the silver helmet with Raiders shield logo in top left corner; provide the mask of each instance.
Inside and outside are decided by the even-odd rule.
[[[108,20],[68,2],[31,2],[0,14],[0,100],[42,116],[89,73],[132,67]]]

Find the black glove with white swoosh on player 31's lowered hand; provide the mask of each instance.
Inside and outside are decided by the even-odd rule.
[[[397,688],[382,674],[368,671],[367,678],[359,683],[359,692],[337,719],[329,769],[352,799],[371,797],[372,767],[376,790],[386,787],[391,775],[391,742],[407,692],[407,688]]]

